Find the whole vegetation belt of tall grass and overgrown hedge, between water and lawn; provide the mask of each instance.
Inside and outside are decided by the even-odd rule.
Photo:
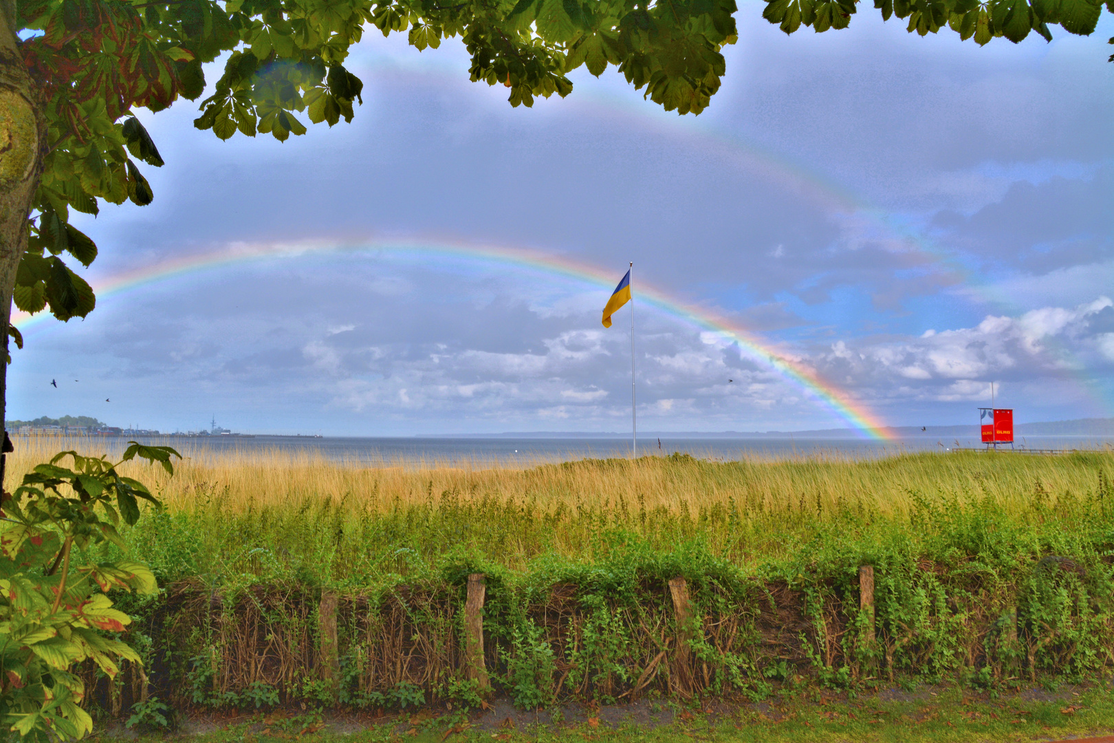
[[[492,683],[527,707],[1097,681],[1114,671],[1112,473],[1110,451],[522,469],[195,451],[153,483],[166,508],[125,534],[164,588],[131,607],[148,671],[99,694],[124,708],[148,686],[207,707],[475,702],[472,573]]]

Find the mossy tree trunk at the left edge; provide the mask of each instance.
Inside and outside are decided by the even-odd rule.
[[[16,35],[16,0],[0,0],[0,338],[8,353],[8,324],[16,271],[27,250],[27,218],[47,155],[47,121],[40,88],[28,75]],[[8,364],[0,359],[0,420],[8,414]],[[3,433],[7,434],[7,431]],[[0,444],[3,436],[0,436]],[[3,486],[0,454],[0,486]]]

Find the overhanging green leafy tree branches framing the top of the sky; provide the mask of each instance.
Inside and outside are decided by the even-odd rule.
[[[198,99],[205,68],[224,56],[199,129],[285,140],[306,123],[351,121],[363,82],[344,67],[365,30],[407,32],[419,50],[460,37],[473,81],[509,88],[512,106],[568,95],[568,74],[614,66],[666,110],[698,114],[736,41],[735,0],[28,0],[17,4],[23,61],[40,81],[49,141],[35,199],[16,305],[84,317],[89,285],[60,257],[84,265],[97,248],[68,222],[98,199],[149,204],[143,166],[163,158],[134,117],[179,97]],[[950,28],[964,39],[1020,41],[1052,26],[1091,33],[1100,0],[874,0],[885,18],[920,35]],[[1114,11],[1114,0],[1106,0]],[[844,28],[856,0],[769,0],[763,16],[786,33]],[[1112,39],[1114,42],[1114,39]],[[1112,57],[1114,60],[1114,57]]]

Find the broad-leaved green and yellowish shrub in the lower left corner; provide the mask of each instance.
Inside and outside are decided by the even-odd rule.
[[[131,442],[121,461],[140,457],[173,473],[172,456],[173,449]],[[59,466],[66,457],[71,468]],[[124,547],[117,528],[139,519],[139,500],[157,501],[121,477],[119,463],[63,451],[0,504],[0,721],[31,741],[92,730],[74,664],[90,658],[114,678],[120,659],[141,662],[111,636],[131,618],[113,608],[108,592],[152,594],[155,576],[129,559],[97,558],[109,544]]]

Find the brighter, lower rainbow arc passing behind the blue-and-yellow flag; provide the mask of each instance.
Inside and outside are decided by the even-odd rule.
[[[539,271],[544,274],[559,275],[587,282],[608,291],[614,289],[615,282],[622,275],[622,272],[606,272],[598,266],[568,257],[554,256],[525,248],[469,245],[447,241],[363,239],[348,244],[335,242],[240,244],[223,251],[162,261],[92,283],[97,296],[104,300],[176,276],[214,271],[225,266],[266,260],[291,260],[307,254],[368,253],[372,251],[457,256],[470,261],[519,266]],[[856,401],[842,390],[823,381],[807,364],[779,351],[773,345],[762,341],[747,330],[740,327],[719,312],[685,303],[641,280],[636,281],[634,289],[635,299],[638,303],[649,304],[665,314],[678,319],[685,324],[701,331],[711,331],[721,335],[730,343],[736,345],[741,355],[773,370],[781,378],[801,389],[808,398],[847,421],[864,437],[880,440],[891,438],[885,424],[862,403]],[[603,305],[600,304],[600,306]],[[16,312],[12,314],[12,323],[20,331],[26,332],[41,325],[47,317],[50,317],[50,315],[46,312],[35,315]]]

